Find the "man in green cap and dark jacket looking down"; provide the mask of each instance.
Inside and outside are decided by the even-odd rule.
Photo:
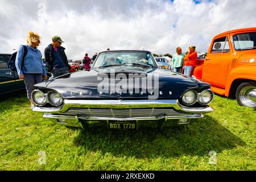
[[[71,69],[64,51],[65,48],[61,46],[62,43],[64,43],[63,40],[56,35],[52,38],[52,44],[44,49],[48,72],[52,72],[54,77],[64,75]]]

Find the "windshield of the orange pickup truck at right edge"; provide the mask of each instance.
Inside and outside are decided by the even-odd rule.
[[[237,51],[256,49],[256,32],[234,35],[233,41]]]

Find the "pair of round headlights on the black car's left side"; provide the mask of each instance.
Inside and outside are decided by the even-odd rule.
[[[61,104],[63,104],[62,96],[55,91],[43,93],[40,90],[34,90],[31,96],[35,104],[39,106],[43,106],[47,102],[53,106],[60,106]]]

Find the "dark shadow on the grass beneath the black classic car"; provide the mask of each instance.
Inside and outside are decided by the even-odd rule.
[[[143,128],[138,131],[109,131],[105,128],[81,130],[74,139],[85,151],[135,158],[169,158],[182,155],[208,155],[245,145],[239,137],[212,117],[197,119],[187,126],[168,127],[161,132]]]

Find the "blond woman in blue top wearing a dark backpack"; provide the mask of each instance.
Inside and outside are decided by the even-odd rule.
[[[15,66],[20,79],[24,80],[27,90],[27,98],[30,100],[31,107],[34,103],[31,100],[31,93],[34,90],[34,85],[44,80],[47,80],[46,68],[44,68],[42,53],[37,48],[40,44],[40,36],[30,31],[27,35],[27,55],[24,57],[22,64],[22,57],[24,54],[24,47],[20,46],[15,60]]]

